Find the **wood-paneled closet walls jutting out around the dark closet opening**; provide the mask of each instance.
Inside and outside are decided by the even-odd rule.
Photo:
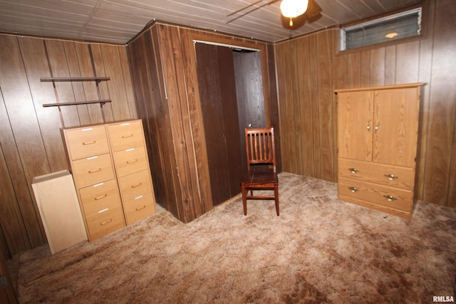
[[[149,159],[156,199],[184,222],[212,209],[194,41],[259,49],[266,120],[279,125],[271,45],[163,23],[153,23],[130,41],[138,112],[152,147]]]

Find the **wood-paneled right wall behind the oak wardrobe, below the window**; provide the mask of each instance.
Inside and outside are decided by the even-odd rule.
[[[415,198],[456,207],[456,2],[428,2],[419,41],[337,53],[327,30],[276,44],[284,171],[337,182],[334,90],[423,82]]]

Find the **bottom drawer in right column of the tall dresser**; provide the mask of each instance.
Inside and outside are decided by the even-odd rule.
[[[155,201],[152,192],[141,194],[134,199],[124,201],[123,211],[127,225],[133,224],[140,219],[155,214]]]

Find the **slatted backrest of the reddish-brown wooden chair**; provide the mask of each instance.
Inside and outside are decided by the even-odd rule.
[[[269,164],[276,170],[274,127],[245,129],[247,169],[251,164]]]

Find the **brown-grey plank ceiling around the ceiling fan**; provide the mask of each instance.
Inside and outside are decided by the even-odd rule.
[[[280,1],[257,0],[0,0],[0,32],[128,43],[150,21],[165,21],[235,36],[277,42],[305,33],[385,14],[420,0],[316,0],[321,14],[289,20]],[[245,14],[244,16],[242,16]],[[238,18],[239,17],[239,18]]]

